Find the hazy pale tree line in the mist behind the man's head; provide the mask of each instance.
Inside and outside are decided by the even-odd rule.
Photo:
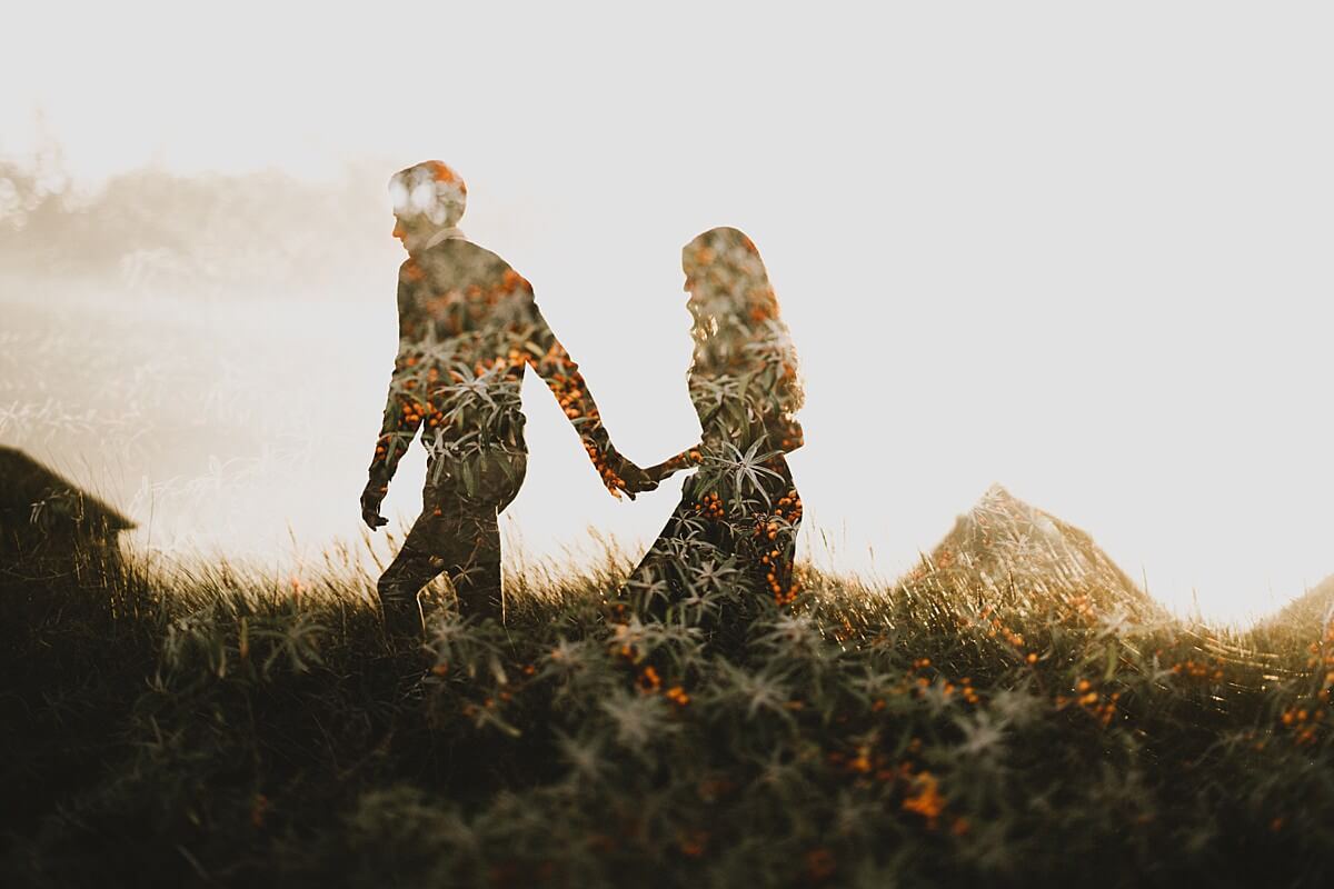
[[[57,148],[0,157],[0,267],[17,275],[172,291],[346,283],[387,237],[384,216],[383,181],[355,168],[332,183],[141,168],[88,189]]]

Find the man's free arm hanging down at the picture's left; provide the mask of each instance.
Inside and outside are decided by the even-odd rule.
[[[416,331],[412,325],[411,292],[402,276],[398,304],[399,352],[394,360],[394,373],[390,376],[390,392],[384,401],[384,421],[375,441],[370,478],[362,492],[362,518],[371,530],[388,524],[388,518],[380,516],[380,502],[388,493],[390,481],[398,470],[399,460],[412,444],[418,429],[422,428],[423,415],[427,411],[427,393],[419,391],[419,387],[424,384],[418,379],[420,355],[416,348]]]

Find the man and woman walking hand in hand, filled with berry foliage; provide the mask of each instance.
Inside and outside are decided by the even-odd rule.
[[[424,161],[395,173],[390,192],[394,235],[408,259],[399,269],[399,352],[362,493],[366,524],[372,530],[387,524],[380,502],[418,432],[427,478],[422,516],[378,584],[388,634],[420,638],[418,593],[442,572],[464,614],[500,618],[496,517],[519,493],[527,466],[519,397],[526,365],[556,396],[612,496],[634,498],[696,468],[626,582],[630,604],[672,614],[679,604],[702,601],[700,577],[779,605],[791,601],[802,506],[783,454],[802,445],[795,413],[803,396],[796,355],[751,240],[715,228],[682,253],[695,340],[688,385],[703,436],[642,469],[612,446],[579,367],[547,327],[528,281],[458,229],[467,203],[459,175]]]

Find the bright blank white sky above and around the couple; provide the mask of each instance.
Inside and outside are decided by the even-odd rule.
[[[892,576],[999,481],[1175,608],[1334,572],[1334,9],[718,5],[23,4],[0,152],[40,108],[88,181],[444,159],[642,462],[698,431],[679,248],[738,225],[803,360],[810,552]],[[675,492],[606,500],[539,395],[523,537],[650,537]],[[379,399],[328,439],[368,457]]]

